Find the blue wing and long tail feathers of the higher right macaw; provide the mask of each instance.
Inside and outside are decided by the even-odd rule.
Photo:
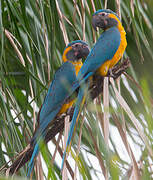
[[[82,84],[84,84],[85,81],[90,76],[92,76],[102,64],[104,64],[107,60],[111,60],[113,58],[116,51],[118,50],[120,42],[121,42],[120,32],[118,31],[116,27],[110,28],[101,34],[100,38],[98,39],[98,41],[96,42],[92,50],[90,51],[90,54],[88,55],[83,66],[81,67],[77,76],[78,81],[73,85],[72,92],[79,86],[82,86]],[[66,149],[63,154],[61,169],[63,169],[66,150],[70,144],[74,126],[79,116],[80,106],[85,96],[84,90],[85,90],[84,87],[81,87],[79,90],[79,94],[78,94],[78,98],[77,98],[77,102],[75,105],[75,110],[74,110],[74,114],[73,114],[73,118],[72,118],[72,122],[70,126],[70,131],[68,135],[68,140],[66,143]]]

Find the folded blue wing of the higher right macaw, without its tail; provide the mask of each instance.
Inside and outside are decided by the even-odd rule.
[[[80,69],[77,79],[80,81],[91,72],[94,73],[107,60],[111,60],[120,45],[120,33],[117,28],[112,27],[104,31],[96,44],[90,51],[82,68]]]

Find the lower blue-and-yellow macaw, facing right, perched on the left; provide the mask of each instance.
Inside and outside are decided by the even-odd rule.
[[[48,125],[56,117],[65,113],[70,108],[75,99],[65,103],[65,98],[71,94],[71,87],[77,79],[77,74],[82,66],[81,58],[86,58],[89,54],[88,45],[81,40],[68,44],[63,52],[63,65],[57,70],[54,79],[48,89],[43,105],[39,112],[39,126],[31,140],[34,151],[28,164],[28,174],[34,166],[34,158],[39,152],[39,143],[47,132]]]

